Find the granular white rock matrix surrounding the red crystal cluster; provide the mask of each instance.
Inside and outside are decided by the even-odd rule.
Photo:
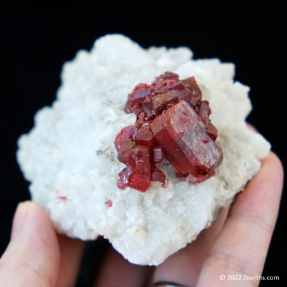
[[[17,152],[32,199],[46,208],[59,232],[81,239],[103,235],[130,262],[158,265],[194,240],[258,172],[270,144],[246,128],[249,88],[233,81],[232,63],[191,57],[188,48],[144,50],[115,34],[63,66],[56,101],[37,112]],[[201,184],[177,179],[165,162],[160,168],[167,188],[152,182],[146,193],[119,190],[123,164],[114,141],[135,122],[135,115],[123,112],[128,92],[166,70],[197,79],[210,101],[224,161]]]

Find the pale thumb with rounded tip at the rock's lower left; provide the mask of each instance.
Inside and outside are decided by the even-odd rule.
[[[59,244],[48,215],[32,202],[19,204],[0,260],[0,286],[55,286],[58,272]]]

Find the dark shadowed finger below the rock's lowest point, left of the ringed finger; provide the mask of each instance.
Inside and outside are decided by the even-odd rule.
[[[152,271],[153,268],[150,266],[131,264],[114,248],[110,247],[99,268],[93,286],[149,286],[148,279],[151,277]]]

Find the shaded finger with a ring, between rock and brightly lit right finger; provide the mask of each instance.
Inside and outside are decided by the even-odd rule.
[[[201,232],[195,241],[160,264],[155,270],[153,281],[172,281],[185,286],[195,286],[210,248],[224,225],[228,210],[229,206],[226,206],[217,220],[208,229]]]

